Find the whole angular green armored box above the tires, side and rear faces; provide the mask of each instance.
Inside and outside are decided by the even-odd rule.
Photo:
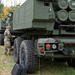
[[[14,30],[37,28],[37,22],[41,24],[38,28],[47,28],[50,22],[52,22],[51,29],[53,29],[55,13],[51,2],[27,0],[14,12],[13,19]],[[42,26],[44,21],[49,23],[46,27]]]

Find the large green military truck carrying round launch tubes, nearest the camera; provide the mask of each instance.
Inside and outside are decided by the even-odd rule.
[[[13,13],[14,59],[27,72],[37,69],[37,57],[75,66],[75,0],[26,0]]]

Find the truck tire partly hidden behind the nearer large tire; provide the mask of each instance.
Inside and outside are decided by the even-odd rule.
[[[14,61],[19,63],[19,51],[20,51],[20,44],[23,41],[23,38],[16,38],[14,40]]]

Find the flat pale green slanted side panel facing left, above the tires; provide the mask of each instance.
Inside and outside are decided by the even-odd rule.
[[[27,0],[18,10],[14,12],[13,29],[25,29],[32,27],[33,1]]]

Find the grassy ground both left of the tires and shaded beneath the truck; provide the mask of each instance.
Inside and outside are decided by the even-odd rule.
[[[14,64],[13,55],[4,55],[4,47],[0,46],[0,75],[11,75]],[[39,69],[36,73],[27,75],[75,75],[75,70],[66,63],[41,60]]]

